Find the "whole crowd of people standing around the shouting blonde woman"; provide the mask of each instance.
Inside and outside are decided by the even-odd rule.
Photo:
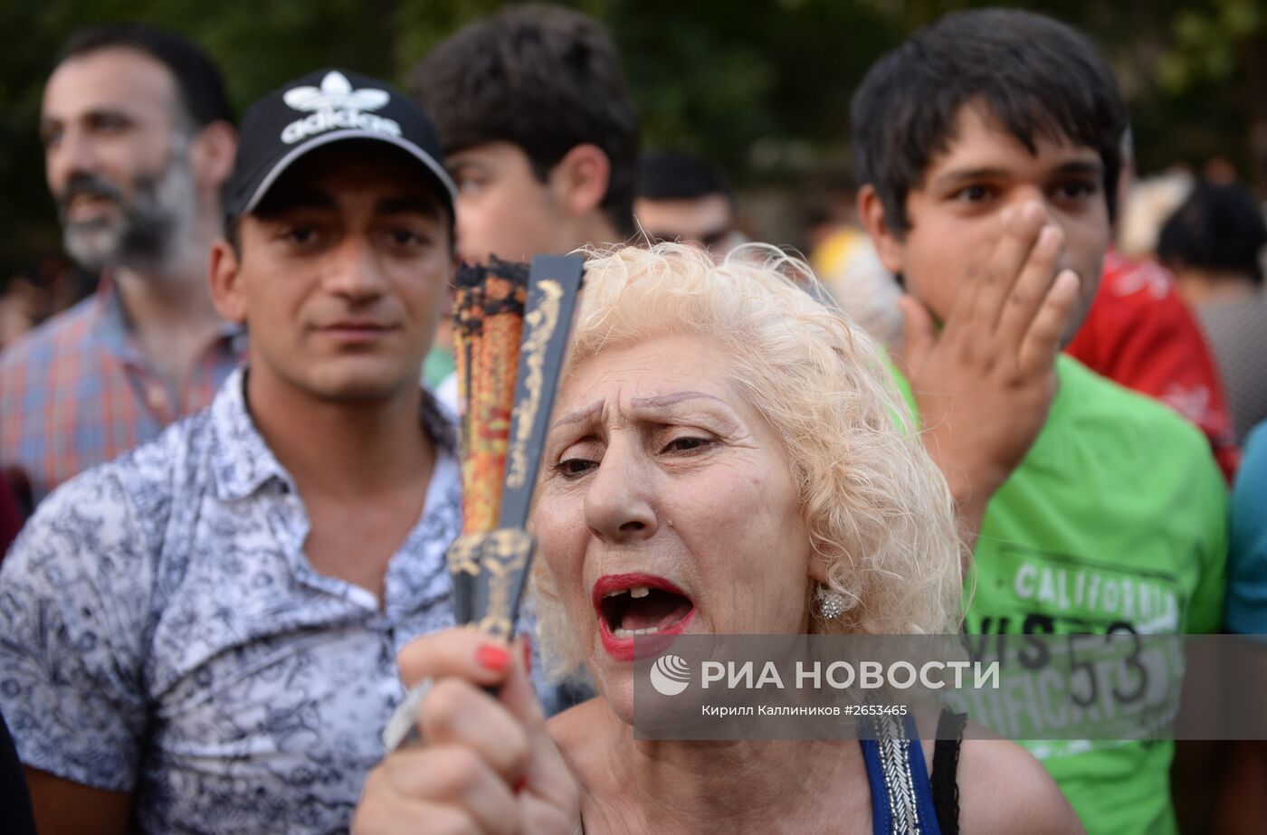
[[[313,68],[238,120],[143,24],[53,63],[98,280],[0,350],[6,832],[1180,831],[1171,741],[639,739],[632,636],[1267,634],[1251,191],[1192,182],[1116,246],[1117,82],[1016,10],[870,68],[808,262],[640,150],[580,13],[503,9],[407,87]],[[451,279],[575,251],[508,645],[450,597]],[[1202,826],[1254,831],[1267,753],[1220,762]]]

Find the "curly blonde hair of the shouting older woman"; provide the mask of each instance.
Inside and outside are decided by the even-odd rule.
[[[830,295],[810,267],[767,245],[720,265],[677,243],[592,250],[568,367],[655,336],[715,340],[732,384],[782,440],[810,545],[845,598],[837,618],[815,612],[811,631],[957,632],[960,540],[945,479],[883,350],[820,299]],[[533,569],[535,609],[547,666],[563,677],[583,651],[546,563]]]

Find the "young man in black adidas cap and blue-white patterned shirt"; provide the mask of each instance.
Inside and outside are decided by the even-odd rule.
[[[44,832],[346,829],[452,623],[452,430],[418,386],[452,256],[426,114],[321,71],[256,103],[212,252],[248,365],[72,479],[0,570],[0,712]]]

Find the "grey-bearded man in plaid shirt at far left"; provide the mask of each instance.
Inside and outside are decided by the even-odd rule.
[[[39,120],[66,251],[101,283],[0,356],[0,461],[32,503],[205,407],[241,357],[207,293],[237,144],[212,60],[151,27],[84,29]]]

